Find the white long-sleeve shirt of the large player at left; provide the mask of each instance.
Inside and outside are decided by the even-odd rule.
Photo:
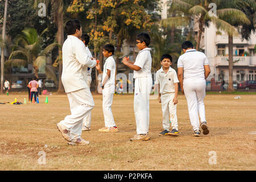
[[[86,84],[87,78],[83,72],[87,67],[93,68],[96,60],[91,60],[86,53],[84,43],[76,36],[68,35],[62,47],[63,72],[61,80],[66,93],[75,92],[80,89],[89,88]]]

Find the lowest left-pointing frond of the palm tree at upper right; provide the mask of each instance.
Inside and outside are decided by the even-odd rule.
[[[167,19],[162,19],[161,24],[163,27],[179,27],[179,26],[189,26],[191,17],[184,16],[184,17],[170,17]]]

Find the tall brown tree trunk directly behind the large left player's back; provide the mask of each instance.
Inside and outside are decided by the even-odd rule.
[[[63,5],[62,5],[63,6]],[[58,31],[57,31],[57,43],[59,43],[61,46],[63,46],[64,43],[64,30],[63,30],[63,11],[61,11],[61,13],[57,13],[57,27],[58,27]],[[59,48],[59,54],[62,53],[61,48]],[[64,86],[62,84],[61,81],[61,75],[62,75],[62,60],[59,63],[59,89],[57,92],[59,93],[64,93]]]

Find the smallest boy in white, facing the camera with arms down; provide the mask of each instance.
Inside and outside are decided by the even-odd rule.
[[[179,92],[179,80],[175,69],[171,68],[171,55],[163,55],[161,57],[162,68],[156,72],[155,84],[159,86],[159,102],[162,103],[163,111],[163,131],[159,136],[179,134],[177,124],[177,94]],[[171,115],[171,118],[169,119]],[[170,132],[170,122],[172,123],[172,131]]]

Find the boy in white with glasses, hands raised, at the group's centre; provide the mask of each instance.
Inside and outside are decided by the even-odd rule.
[[[136,45],[139,53],[135,63],[129,61],[127,57],[123,58],[123,64],[134,70],[135,87],[134,87],[134,114],[137,125],[137,135],[131,138],[131,141],[148,140],[149,127],[149,96],[152,87],[150,55],[150,36],[146,33],[141,33],[137,36]]]

